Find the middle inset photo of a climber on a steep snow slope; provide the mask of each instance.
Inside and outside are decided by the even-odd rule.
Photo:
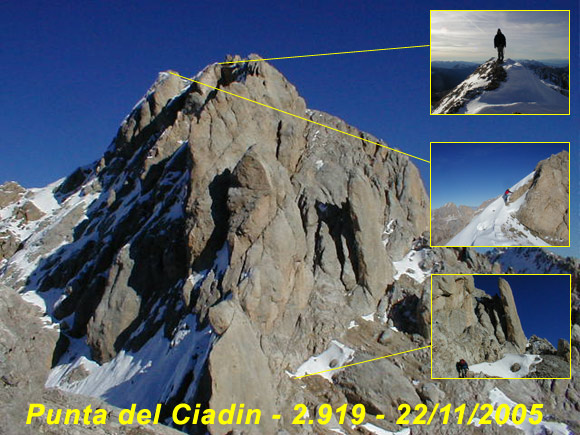
[[[570,246],[569,142],[431,142],[431,246]]]

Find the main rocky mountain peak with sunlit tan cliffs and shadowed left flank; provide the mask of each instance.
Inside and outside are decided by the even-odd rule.
[[[2,280],[50,301],[55,362],[82,355],[105,367],[156,337],[205,331],[165,400],[267,411],[276,385],[296,389],[284,370],[376,311],[393,263],[428,227],[427,196],[407,157],[307,110],[270,65],[210,65],[197,80],[361,139],[162,73],[104,157],[54,188],[60,211]],[[417,291],[383,311],[409,298],[428,306]],[[428,336],[425,319],[417,328]]]

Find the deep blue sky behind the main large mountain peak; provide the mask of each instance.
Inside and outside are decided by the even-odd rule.
[[[0,183],[46,185],[99,158],[159,71],[192,76],[228,53],[278,57],[429,44],[429,10],[453,7],[449,1],[8,2],[0,14]],[[578,70],[576,0],[516,0],[509,7],[572,9],[571,62]],[[486,57],[493,55],[491,44]],[[572,141],[578,161],[575,74],[571,116],[430,116],[429,48],[273,65],[309,107],[425,159],[431,141]],[[414,162],[428,187],[429,165]],[[577,196],[576,165],[572,183]]]

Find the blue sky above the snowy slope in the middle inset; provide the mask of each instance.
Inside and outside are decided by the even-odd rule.
[[[431,206],[479,206],[516,184],[567,143],[434,143]]]

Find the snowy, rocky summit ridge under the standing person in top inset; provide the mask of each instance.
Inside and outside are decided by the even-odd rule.
[[[568,97],[531,69],[490,59],[451,91],[434,114],[568,113]]]

